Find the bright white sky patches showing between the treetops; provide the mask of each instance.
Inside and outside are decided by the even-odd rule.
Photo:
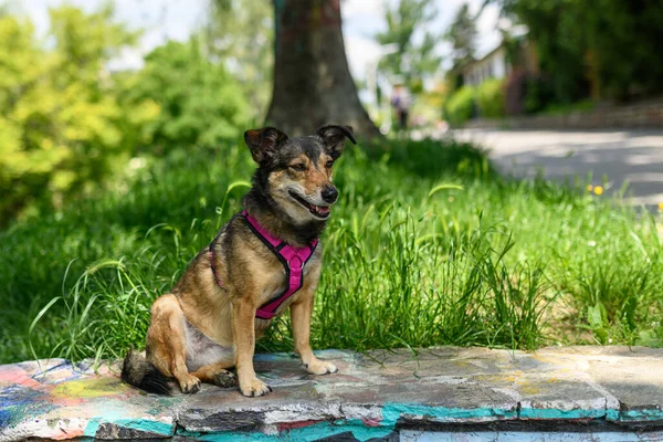
[[[269,0],[244,0],[264,1]],[[386,29],[383,2],[393,0],[341,0],[343,31],[346,53],[350,71],[355,80],[366,80],[367,70],[380,56],[380,46],[372,38]],[[465,0],[435,0],[438,18],[430,24],[431,30],[442,33],[446,30],[457,9]],[[62,3],[70,3],[93,11],[104,4],[105,0],[15,0],[19,9],[25,12],[35,24],[38,33],[44,34],[49,28],[48,9]],[[467,0],[471,12],[476,12],[483,0]],[[207,18],[206,0],[115,0],[116,15],[129,28],[145,29],[138,50],[125,51],[114,60],[109,69],[138,69],[143,64],[143,55],[167,40],[186,40]],[[477,55],[488,53],[499,43],[497,32],[498,10],[487,7],[482,13],[476,28],[478,31]],[[448,43],[441,42],[439,51],[449,54]],[[445,57],[443,67],[449,66]]]

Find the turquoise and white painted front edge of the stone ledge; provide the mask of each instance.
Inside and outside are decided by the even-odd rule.
[[[441,423],[490,423],[495,421],[612,421],[614,423],[639,423],[641,428],[651,424],[663,423],[663,415],[656,410],[640,410],[633,412],[628,410],[620,412],[617,409],[608,409],[597,403],[587,404],[587,408],[535,408],[527,407],[527,402],[517,402],[515,407],[506,408],[477,408],[454,409],[424,404],[389,403],[383,406],[362,404],[328,404],[326,408],[312,408],[311,406],[290,406],[286,408],[272,409],[264,412],[253,412],[249,421],[253,425],[238,427],[234,430],[218,431],[217,428],[198,427],[196,430],[187,429],[173,413],[171,419],[154,420],[148,417],[136,419],[104,419],[93,418],[78,421],[49,422],[45,429],[42,423],[35,422],[33,428],[14,429],[13,434],[6,433],[1,440],[20,440],[27,434],[36,438],[66,439],[67,429],[80,427],[83,436],[98,439],[152,439],[171,438],[175,435],[192,436],[196,439],[219,440],[228,436],[228,440],[256,440],[287,432],[288,436],[308,439],[311,435],[329,436],[340,432],[349,432],[358,440],[382,438],[397,431],[401,424],[425,430],[429,425]],[[591,407],[590,407],[591,406]],[[238,410],[229,413],[229,419],[246,418],[250,410]],[[32,425],[31,425],[32,427]],[[53,428],[62,429],[56,435]],[[223,440],[221,438],[221,440]],[[317,439],[320,439],[317,438]]]

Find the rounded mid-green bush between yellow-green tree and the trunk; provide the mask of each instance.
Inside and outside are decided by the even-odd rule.
[[[144,149],[214,147],[235,138],[249,120],[239,82],[209,60],[197,38],[168,42],[145,59],[145,67],[127,78],[123,103],[155,103],[161,109],[145,130]]]

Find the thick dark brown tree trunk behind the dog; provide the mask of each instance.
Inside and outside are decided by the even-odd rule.
[[[267,124],[290,136],[327,124],[380,136],[348,70],[339,0],[274,0],[274,91]]]

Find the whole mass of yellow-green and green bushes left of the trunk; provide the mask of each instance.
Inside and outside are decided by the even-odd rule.
[[[139,72],[109,73],[138,33],[110,8],[50,14],[45,41],[0,15],[0,225],[97,191],[139,149],[214,147],[255,116],[201,38],[157,48]]]

